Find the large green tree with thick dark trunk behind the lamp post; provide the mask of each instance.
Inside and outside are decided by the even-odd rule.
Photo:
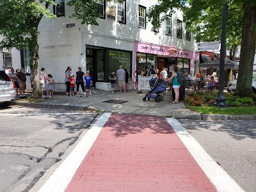
[[[175,8],[184,13],[184,22],[195,26],[200,31],[198,40],[220,40],[222,0],[162,0],[148,10],[148,19],[157,28],[159,27],[159,13],[172,13]],[[227,47],[230,51],[236,50],[241,42],[241,56],[236,94],[240,97],[252,96],[252,72],[255,53],[255,8],[254,0],[228,1]],[[208,14],[203,15],[203,12]],[[162,22],[164,17],[160,19]],[[234,53],[231,54],[234,56]],[[250,75],[248,75],[250,74]]]

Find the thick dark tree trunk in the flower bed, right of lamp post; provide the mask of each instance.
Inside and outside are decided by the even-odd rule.
[[[236,95],[252,97],[252,73],[255,54],[256,33],[256,6],[244,3],[243,28],[240,63],[237,77]]]

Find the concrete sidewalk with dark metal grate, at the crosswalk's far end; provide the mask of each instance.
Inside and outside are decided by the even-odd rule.
[[[93,89],[92,94],[87,98],[67,97],[63,95],[54,95],[51,99],[44,99],[43,102],[29,104],[26,99],[17,100],[13,104],[23,104],[27,106],[38,106],[48,108],[68,108],[93,110],[98,109],[104,112],[133,114],[133,115],[150,115],[150,116],[168,116],[172,115],[175,118],[191,118],[200,120],[202,116],[199,113],[186,109],[184,100],[180,100],[179,104],[171,104],[173,102],[170,93],[166,92],[161,102],[155,102],[150,99],[143,102],[143,97],[147,92],[136,93],[136,90],[129,92],[106,92]],[[22,102],[22,103],[20,103]]]

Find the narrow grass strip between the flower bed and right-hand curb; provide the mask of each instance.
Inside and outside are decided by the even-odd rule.
[[[256,115],[256,107],[218,108],[209,106],[186,106],[186,108],[202,114]]]

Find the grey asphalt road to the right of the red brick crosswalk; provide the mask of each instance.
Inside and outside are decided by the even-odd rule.
[[[179,120],[244,191],[256,191],[256,121]]]

